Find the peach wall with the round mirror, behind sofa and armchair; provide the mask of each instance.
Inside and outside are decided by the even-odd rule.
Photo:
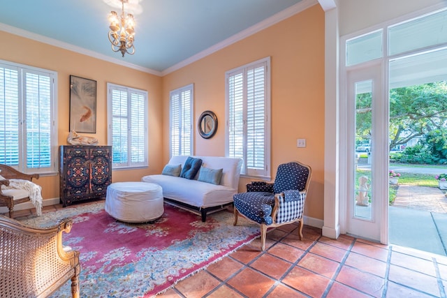
[[[272,177],[288,161],[311,165],[307,216],[323,219],[324,172],[324,13],[311,8],[240,40],[163,77],[163,160],[169,159],[169,91],[194,84],[194,154],[225,155],[225,72],[271,57]],[[197,120],[205,110],[217,114],[216,135],[203,139]],[[296,139],[305,138],[306,148]],[[240,191],[251,179],[240,180]]]

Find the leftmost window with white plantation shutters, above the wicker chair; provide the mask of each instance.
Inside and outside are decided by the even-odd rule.
[[[57,172],[57,73],[0,61],[0,163]]]

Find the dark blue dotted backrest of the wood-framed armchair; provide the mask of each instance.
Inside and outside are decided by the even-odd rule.
[[[292,161],[278,166],[277,176],[274,179],[274,193],[283,193],[288,190],[305,191],[309,186],[312,169],[309,165]]]

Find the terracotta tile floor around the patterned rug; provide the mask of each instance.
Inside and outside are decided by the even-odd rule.
[[[43,207],[43,212],[61,205]],[[15,211],[14,217],[33,210]],[[447,297],[447,257],[297,225],[268,232],[180,281],[157,298],[174,297]]]

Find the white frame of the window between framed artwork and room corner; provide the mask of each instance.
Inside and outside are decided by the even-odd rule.
[[[125,147],[122,148],[123,151],[127,152],[127,160],[122,162],[122,163],[115,163],[113,161],[113,131],[112,131],[112,127],[113,127],[113,121],[114,121],[114,116],[112,114],[113,110],[113,98],[112,98],[112,91],[120,91],[123,93],[126,93],[126,111],[127,114],[125,116],[122,116],[126,119],[126,127],[127,127],[127,135],[126,135],[126,141],[127,141],[127,145]],[[138,134],[138,138],[142,138],[142,141],[140,141],[143,144],[143,153],[142,153],[142,158],[138,158],[138,161],[132,161],[132,154],[135,154],[135,150],[133,150],[132,148],[132,138],[136,137],[135,135],[132,135],[132,132],[135,132],[135,129],[137,131],[140,131],[140,128],[133,128],[132,127],[132,114],[131,114],[131,100],[132,97],[131,95],[136,95],[136,96],[143,96],[143,107],[142,107],[142,111],[138,110],[138,112],[140,112],[140,114],[142,115],[142,119],[139,119],[138,121],[138,127],[142,126],[142,131],[143,133],[139,133]],[[113,170],[126,170],[126,169],[132,169],[132,168],[140,168],[140,167],[147,167],[148,166],[148,156],[147,156],[147,152],[148,152],[148,144],[147,144],[147,140],[148,140],[148,129],[147,129],[147,91],[145,90],[140,90],[140,89],[134,89],[131,87],[126,87],[126,86],[121,86],[121,85],[117,85],[117,84],[112,84],[112,83],[107,83],[107,111],[108,111],[108,144],[110,146],[112,146],[112,167]],[[122,118],[122,117],[115,117],[115,118]]]

